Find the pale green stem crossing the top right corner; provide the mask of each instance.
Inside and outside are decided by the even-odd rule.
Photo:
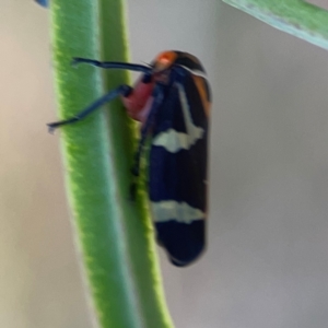
[[[223,0],[286,33],[328,49],[328,11],[304,0]]]

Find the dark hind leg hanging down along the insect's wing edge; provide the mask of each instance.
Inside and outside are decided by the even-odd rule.
[[[136,198],[137,178],[139,177],[139,174],[140,174],[140,159],[141,159],[141,154],[143,152],[143,147],[144,147],[147,137],[149,136],[149,131],[151,130],[151,128],[153,127],[153,125],[155,122],[157,109],[160,108],[160,106],[163,102],[163,97],[164,97],[161,85],[157,84],[155,86],[154,92],[153,92],[153,97],[154,97],[154,101],[152,103],[152,107],[150,109],[147,121],[144,122],[144,125],[141,129],[141,136],[140,136],[139,144],[138,144],[138,150],[134,153],[134,160],[133,160],[134,163],[133,163],[133,166],[131,169],[134,178],[130,186],[130,198],[132,200],[134,200],[134,198]]]

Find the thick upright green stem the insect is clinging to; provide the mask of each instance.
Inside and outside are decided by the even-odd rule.
[[[126,60],[124,1],[52,0],[51,33],[59,117],[103,93],[101,71],[72,57]],[[101,40],[101,42],[99,42]],[[103,56],[101,56],[103,54]],[[128,82],[106,77],[107,87]],[[60,129],[67,189],[92,304],[101,327],[173,327],[155,257],[144,188],[129,200],[134,125],[119,101]]]

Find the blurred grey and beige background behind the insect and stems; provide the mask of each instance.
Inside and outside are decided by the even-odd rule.
[[[0,5],[0,327],[91,327],[45,127],[48,14]],[[213,91],[209,249],[187,269],[161,259],[176,327],[327,327],[327,52],[218,0],[128,5],[133,61],[192,52]]]

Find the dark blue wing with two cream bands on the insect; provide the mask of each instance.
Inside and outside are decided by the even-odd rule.
[[[206,243],[208,117],[195,77],[172,74],[154,119],[149,192],[159,244],[186,266]]]

